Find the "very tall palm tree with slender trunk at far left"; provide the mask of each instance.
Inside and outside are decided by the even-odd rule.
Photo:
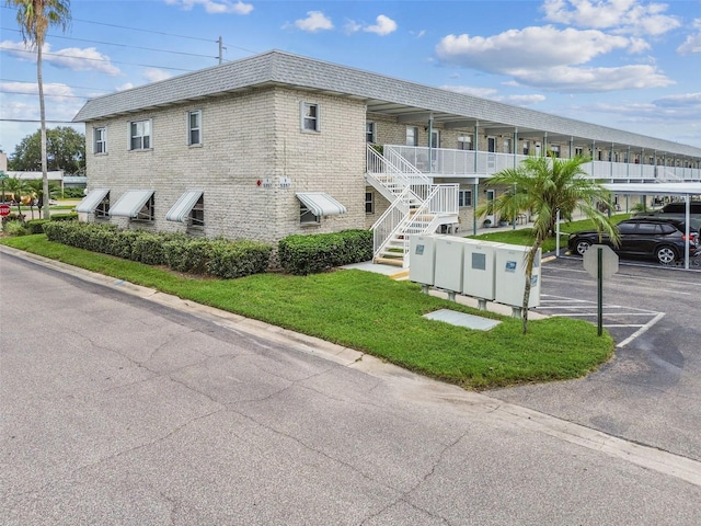
[[[46,161],[46,110],[44,105],[44,81],[42,78],[42,48],[49,26],[59,25],[64,31],[70,22],[70,0],[7,0],[18,10],[18,23],[22,39],[36,48],[36,82],[39,91],[39,118],[42,121],[42,181],[44,195],[49,195]],[[44,203],[44,217],[48,219],[48,199]]]

